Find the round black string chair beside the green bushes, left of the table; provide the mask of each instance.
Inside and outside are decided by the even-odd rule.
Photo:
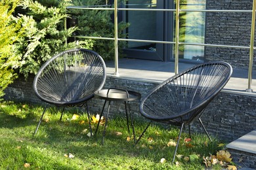
[[[63,107],[62,114],[65,107],[86,105],[91,130],[87,101],[94,97],[94,92],[102,88],[105,80],[106,65],[100,55],[92,50],[78,48],[60,52],[44,63],[35,75],[33,90],[41,101]],[[46,109],[47,105],[35,133]]]

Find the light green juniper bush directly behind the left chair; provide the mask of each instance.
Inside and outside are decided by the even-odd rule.
[[[24,33],[14,45],[16,56],[22,59],[19,72],[24,76],[37,73],[42,63],[58,52],[74,47],[91,48],[90,40],[81,42],[79,46],[75,42],[65,43],[77,29],[64,29],[64,20],[68,17],[66,7],[70,2],[24,0],[20,4],[22,8],[16,9]]]

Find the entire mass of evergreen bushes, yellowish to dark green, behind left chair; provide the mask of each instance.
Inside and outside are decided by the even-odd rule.
[[[45,61],[63,50],[87,48],[95,50],[104,59],[114,58],[112,40],[79,39],[67,42],[74,33],[114,37],[113,10],[75,10],[70,14],[78,18],[78,24],[68,29],[64,26],[66,19],[71,18],[66,7],[104,3],[106,1],[103,0],[0,1],[0,97],[15,78],[36,74]],[[119,37],[121,30],[127,26],[119,23]]]

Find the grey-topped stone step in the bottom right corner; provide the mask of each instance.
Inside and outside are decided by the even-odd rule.
[[[244,168],[256,169],[256,130],[226,145],[232,161]]]

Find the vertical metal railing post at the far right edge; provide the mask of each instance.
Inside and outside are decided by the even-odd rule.
[[[246,92],[253,92],[251,89],[252,83],[252,71],[253,71],[253,46],[254,46],[254,35],[255,35],[255,5],[256,1],[253,0],[253,10],[251,14],[251,43],[250,43],[250,51],[249,51],[249,71],[248,71],[248,88]]]

